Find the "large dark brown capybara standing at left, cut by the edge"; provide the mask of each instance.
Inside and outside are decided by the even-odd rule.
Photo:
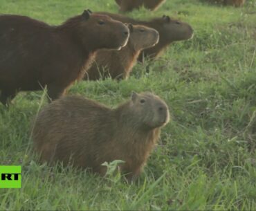
[[[120,49],[129,28],[106,15],[84,10],[60,26],[20,15],[0,16],[0,101],[17,91],[47,86],[54,100],[84,77],[95,51]]]

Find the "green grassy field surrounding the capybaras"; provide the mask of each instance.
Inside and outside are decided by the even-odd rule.
[[[0,13],[49,24],[86,8],[118,12],[113,0],[0,0]],[[0,104],[0,165],[22,165],[22,188],[0,189],[0,210],[256,210],[256,1],[233,8],[167,0],[129,16],[164,14],[191,24],[194,38],[172,44],[149,74],[137,64],[127,81],[69,91],[111,107],[131,91],[166,100],[172,122],[138,182],[40,165],[30,122],[46,102],[42,91],[19,93],[9,109]]]

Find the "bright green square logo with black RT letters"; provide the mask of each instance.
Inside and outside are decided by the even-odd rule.
[[[20,165],[0,165],[0,188],[21,188]]]

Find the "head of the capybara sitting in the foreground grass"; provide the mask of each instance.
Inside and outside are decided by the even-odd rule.
[[[130,109],[138,119],[136,124],[146,129],[162,127],[170,120],[167,104],[152,93],[132,93]]]

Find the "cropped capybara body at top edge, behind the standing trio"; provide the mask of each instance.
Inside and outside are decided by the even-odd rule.
[[[129,12],[141,6],[145,6],[149,10],[156,10],[164,2],[165,0],[116,0],[121,12]]]

